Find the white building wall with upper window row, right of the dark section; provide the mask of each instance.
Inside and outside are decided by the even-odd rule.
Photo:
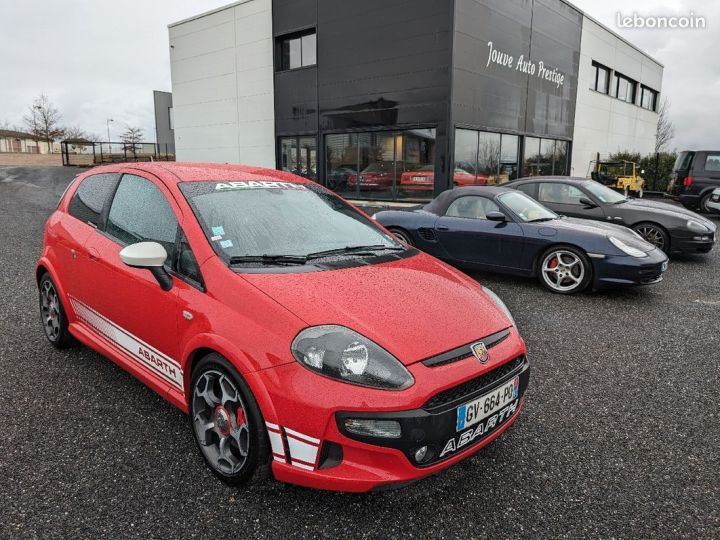
[[[595,159],[597,152],[606,157],[618,150],[641,154],[655,150],[657,113],[591,90],[593,60],[653,90],[662,90],[661,65],[592,19],[583,17],[572,151],[572,174],[575,176],[589,174],[590,161]],[[639,94],[638,85],[636,103],[639,103]]]

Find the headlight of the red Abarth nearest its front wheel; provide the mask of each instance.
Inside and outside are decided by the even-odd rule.
[[[306,368],[350,384],[404,390],[415,382],[397,358],[344,326],[306,328],[290,349]]]

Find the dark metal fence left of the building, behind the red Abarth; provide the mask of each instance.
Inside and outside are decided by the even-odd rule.
[[[175,153],[168,144],[63,141],[60,147],[63,165],[73,167],[134,161],[175,161]]]

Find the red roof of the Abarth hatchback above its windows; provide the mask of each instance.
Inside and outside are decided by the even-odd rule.
[[[241,180],[274,180],[282,182],[295,182],[298,184],[312,183],[311,180],[295,174],[255,167],[251,165],[236,165],[232,163],[193,163],[175,161],[153,161],[142,163],[117,163],[104,165],[91,169],[92,173],[119,172],[121,170],[136,170],[147,172],[173,183],[202,182],[202,181],[241,181]]]

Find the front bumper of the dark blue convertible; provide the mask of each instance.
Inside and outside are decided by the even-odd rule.
[[[659,249],[653,249],[647,257],[640,259],[629,255],[607,255],[593,261],[596,289],[617,285],[653,285],[662,281],[668,265],[667,255]]]

